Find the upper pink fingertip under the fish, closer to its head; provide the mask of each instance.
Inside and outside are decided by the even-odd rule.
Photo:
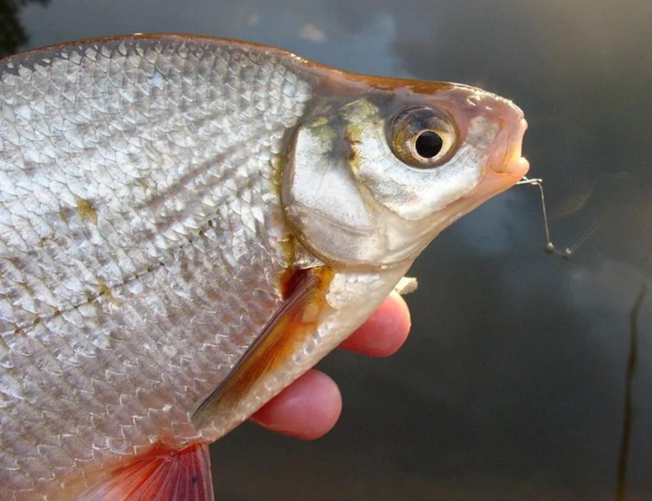
[[[388,356],[403,345],[409,328],[408,305],[393,292],[340,347],[369,356]]]

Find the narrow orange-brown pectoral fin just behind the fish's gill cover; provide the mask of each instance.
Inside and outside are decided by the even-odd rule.
[[[251,386],[292,355],[297,343],[314,326],[325,303],[325,290],[333,277],[329,268],[299,270],[289,278],[282,306],[244,352],[230,374],[192,414],[198,427],[211,423],[220,409],[241,399]]]

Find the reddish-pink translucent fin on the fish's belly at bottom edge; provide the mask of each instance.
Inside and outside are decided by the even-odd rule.
[[[213,501],[208,444],[162,447],[117,468],[78,501]]]

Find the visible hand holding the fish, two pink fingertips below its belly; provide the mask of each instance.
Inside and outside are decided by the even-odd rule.
[[[340,347],[368,356],[388,356],[404,343],[409,327],[408,306],[401,296],[392,293]],[[277,433],[312,440],[325,435],[341,411],[337,384],[323,372],[310,369],[250,420]]]

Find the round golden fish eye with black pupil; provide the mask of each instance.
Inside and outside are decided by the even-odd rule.
[[[394,118],[389,134],[394,154],[413,167],[437,167],[451,158],[457,130],[441,111],[427,106],[406,109]]]

